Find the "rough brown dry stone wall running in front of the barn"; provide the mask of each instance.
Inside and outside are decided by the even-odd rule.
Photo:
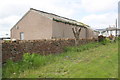
[[[41,55],[58,54],[64,51],[66,46],[74,46],[74,39],[58,40],[28,40],[10,41],[2,43],[2,61],[18,61],[22,59],[24,53],[37,53]],[[96,39],[80,40],[79,45],[97,41]]]

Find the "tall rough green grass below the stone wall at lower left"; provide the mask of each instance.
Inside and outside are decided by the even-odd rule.
[[[37,67],[46,65],[50,61],[54,61],[54,59],[51,59],[51,55],[42,56],[38,54],[25,53],[21,61],[7,61],[3,66],[3,77],[10,77],[13,74],[17,76],[19,73],[24,72],[24,70],[36,69]]]

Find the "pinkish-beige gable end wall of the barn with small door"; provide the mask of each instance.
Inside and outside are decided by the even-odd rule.
[[[32,10],[16,26],[11,29],[12,39],[19,40],[20,32],[24,32],[25,40],[51,39],[52,37],[52,20]]]

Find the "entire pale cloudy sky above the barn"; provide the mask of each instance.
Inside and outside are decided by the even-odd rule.
[[[0,37],[30,9],[71,18],[93,29],[115,24],[119,0],[0,0]]]

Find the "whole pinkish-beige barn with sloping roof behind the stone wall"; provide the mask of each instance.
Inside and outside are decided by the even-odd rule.
[[[11,39],[73,39],[74,34],[72,28],[74,27],[81,27],[80,39],[92,39],[98,36],[98,34],[86,24],[30,8],[12,27]]]

